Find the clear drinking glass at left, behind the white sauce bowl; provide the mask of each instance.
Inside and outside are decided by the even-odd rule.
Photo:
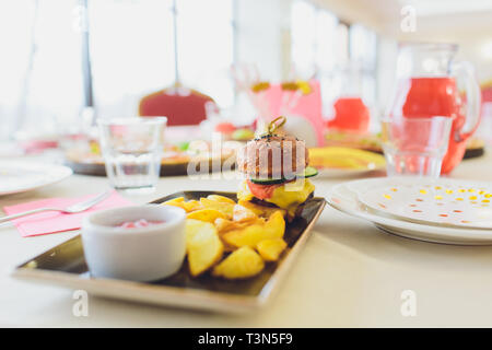
[[[99,119],[97,124],[112,186],[137,192],[155,189],[167,118]]]

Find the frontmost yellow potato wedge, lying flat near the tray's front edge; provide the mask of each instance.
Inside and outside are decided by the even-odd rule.
[[[226,279],[244,279],[258,275],[265,268],[261,257],[250,247],[242,247],[216,265],[212,275]]]

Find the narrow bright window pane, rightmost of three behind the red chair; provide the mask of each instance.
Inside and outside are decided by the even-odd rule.
[[[234,103],[233,1],[177,0],[179,79],[212,96],[220,106]]]

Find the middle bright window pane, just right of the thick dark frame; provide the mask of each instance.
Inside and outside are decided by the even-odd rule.
[[[172,0],[89,0],[89,30],[98,115],[136,115],[144,94],[174,82]]]

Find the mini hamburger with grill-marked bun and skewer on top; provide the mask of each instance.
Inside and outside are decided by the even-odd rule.
[[[276,124],[277,121],[280,124]],[[298,208],[313,197],[308,177],[317,175],[308,166],[308,151],[303,140],[276,133],[285,122],[277,118],[263,136],[249,141],[237,154],[237,167],[245,175],[237,199],[284,209],[291,221]]]

